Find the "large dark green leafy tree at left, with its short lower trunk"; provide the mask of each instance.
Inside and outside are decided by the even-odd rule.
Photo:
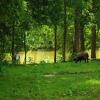
[[[12,53],[12,63],[15,62],[14,53],[22,50],[23,48],[23,39],[24,36],[22,35],[26,30],[29,28],[29,24],[31,18],[27,17],[30,16],[30,10],[27,10],[25,0],[2,0],[0,1],[0,25],[3,24],[3,27],[0,27],[0,32],[2,30],[2,51],[3,48],[5,50],[11,50]],[[24,24],[23,24],[24,23]],[[6,31],[5,31],[6,30]],[[5,46],[5,40],[8,39],[7,44]],[[24,46],[25,47],[25,46]]]

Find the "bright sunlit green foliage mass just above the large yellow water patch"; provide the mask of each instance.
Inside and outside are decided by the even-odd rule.
[[[42,25],[30,30],[27,35],[27,45],[30,49],[52,49],[53,48],[53,30],[47,25]]]

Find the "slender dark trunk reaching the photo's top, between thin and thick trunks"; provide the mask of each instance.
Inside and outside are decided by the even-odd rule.
[[[65,62],[66,60],[66,34],[67,34],[67,5],[66,0],[64,0],[64,33],[63,33],[63,47],[62,47],[62,61]]]

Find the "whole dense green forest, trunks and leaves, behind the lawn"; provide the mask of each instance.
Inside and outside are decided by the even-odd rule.
[[[0,60],[14,62],[15,52],[54,52],[53,62],[81,51],[96,59],[100,48],[98,0],[0,0]],[[7,58],[7,55],[10,58]],[[68,58],[68,57],[67,57]]]

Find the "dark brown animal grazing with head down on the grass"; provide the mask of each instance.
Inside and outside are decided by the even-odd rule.
[[[81,52],[78,53],[75,57],[74,57],[74,61],[77,62],[81,62],[82,60],[85,62],[88,62],[88,53],[87,52]]]

